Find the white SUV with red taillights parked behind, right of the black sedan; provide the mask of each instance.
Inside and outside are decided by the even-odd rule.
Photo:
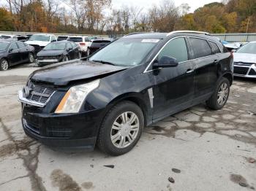
[[[88,55],[88,47],[91,46],[89,36],[69,36],[69,38],[67,38],[67,41],[72,41],[75,42],[75,44],[78,44],[82,51],[82,56]]]

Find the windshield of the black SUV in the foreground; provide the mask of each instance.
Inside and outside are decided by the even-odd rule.
[[[89,58],[89,61],[104,61],[117,66],[138,66],[159,39],[118,39]]]

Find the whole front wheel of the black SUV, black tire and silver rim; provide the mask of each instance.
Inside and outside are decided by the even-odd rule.
[[[97,146],[109,155],[123,155],[135,147],[143,126],[140,107],[131,101],[122,101],[113,106],[102,121]]]

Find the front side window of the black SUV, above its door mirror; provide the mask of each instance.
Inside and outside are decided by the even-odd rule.
[[[173,39],[164,49],[159,53],[158,60],[162,56],[170,56],[176,58],[178,62],[184,62],[188,60],[187,44],[184,38]]]

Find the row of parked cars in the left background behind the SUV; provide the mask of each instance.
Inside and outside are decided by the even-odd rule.
[[[0,50],[1,70],[7,70],[10,66],[28,61],[31,63],[35,58],[37,58],[37,66],[45,66],[78,59],[82,56],[86,57],[111,42],[110,39],[101,40],[97,39],[96,36],[58,36],[56,38],[53,34],[33,34],[26,41],[26,44],[23,43],[23,40],[18,41],[17,36],[14,35],[1,35],[0,40],[2,47]],[[94,43],[91,47],[92,42]],[[7,45],[13,48],[9,49]],[[29,55],[23,55],[25,50],[22,50],[21,47],[26,47]]]

